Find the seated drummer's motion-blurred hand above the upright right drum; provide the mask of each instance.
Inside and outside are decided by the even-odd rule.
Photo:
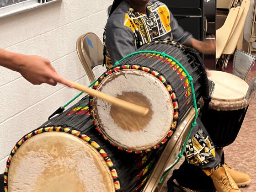
[[[207,39],[205,41],[198,41],[197,39],[190,39],[191,47],[203,54],[216,53],[216,41],[214,39]]]

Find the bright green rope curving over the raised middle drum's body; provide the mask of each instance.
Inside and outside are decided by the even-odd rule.
[[[163,176],[161,177],[161,179],[160,179],[160,181],[159,181],[159,182],[161,183],[161,182],[163,182],[165,176],[167,176],[167,175],[169,174],[169,172],[173,169],[173,167],[175,167],[175,166],[177,165],[177,163],[181,160],[181,157],[182,157],[182,155],[183,155],[183,153],[184,153],[184,150],[185,150],[186,144],[187,144],[187,142],[188,142],[188,139],[189,139],[189,137],[190,137],[190,135],[191,135],[191,133],[192,133],[193,128],[194,128],[194,127],[196,126],[196,124],[197,124],[196,121],[197,121],[197,115],[198,115],[198,113],[197,113],[196,94],[195,94],[195,90],[194,90],[194,85],[193,85],[193,78],[192,78],[192,76],[187,72],[187,70],[183,67],[183,65],[182,65],[179,61],[177,61],[175,58],[171,57],[170,55],[168,55],[168,54],[166,54],[166,53],[161,53],[161,52],[157,52],[157,51],[137,51],[137,52],[128,54],[128,55],[125,56],[123,59],[121,59],[120,61],[116,62],[116,63],[114,64],[114,66],[116,66],[117,64],[120,64],[124,59],[127,59],[128,57],[131,57],[132,55],[139,54],[139,53],[155,53],[155,54],[159,54],[159,55],[163,56],[164,58],[167,57],[167,58],[172,59],[173,61],[175,61],[177,64],[179,64],[179,66],[181,67],[181,69],[183,69],[183,71],[186,73],[186,75],[187,75],[187,77],[188,77],[188,80],[189,80],[189,82],[190,82],[190,85],[191,85],[191,89],[192,89],[192,96],[193,96],[193,102],[194,102],[194,108],[195,108],[195,117],[194,117],[194,119],[193,119],[193,122],[191,123],[191,128],[190,128],[189,133],[188,133],[188,135],[187,135],[187,137],[186,137],[186,140],[185,140],[185,142],[184,142],[184,144],[183,144],[183,146],[182,146],[181,152],[180,152],[179,155],[178,155],[178,156],[179,156],[178,160],[176,161],[176,163],[175,163],[173,166],[171,166],[171,168],[170,168],[169,170],[165,171],[165,173],[163,174]]]

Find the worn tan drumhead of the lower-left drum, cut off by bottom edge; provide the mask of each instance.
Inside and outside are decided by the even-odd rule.
[[[101,155],[84,140],[63,132],[40,133],[16,151],[9,192],[114,192]]]

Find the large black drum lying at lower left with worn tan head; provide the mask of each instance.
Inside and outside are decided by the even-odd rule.
[[[5,169],[5,192],[141,191],[161,150],[129,154],[98,135],[89,97],[25,135]]]

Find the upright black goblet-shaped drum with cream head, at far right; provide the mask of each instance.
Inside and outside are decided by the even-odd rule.
[[[209,80],[213,84],[212,100],[202,122],[218,149],[232,144],[240,131],[249,106],[245,98],[249,85],[222,71],[211,71]]]

